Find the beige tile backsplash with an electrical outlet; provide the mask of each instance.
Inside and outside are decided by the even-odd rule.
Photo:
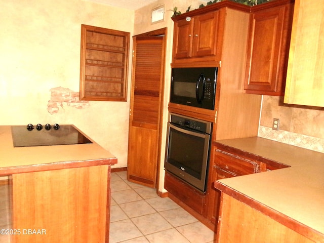
[[[263,96],[259,137],[324,153],[324,108],[290,105],[283,97]],[[279,118],[279,130],[272,130]]]

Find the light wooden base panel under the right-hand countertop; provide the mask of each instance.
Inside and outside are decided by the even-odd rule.
[[[225,193],[221,193],[216,238],[218,243],[314,242]]]

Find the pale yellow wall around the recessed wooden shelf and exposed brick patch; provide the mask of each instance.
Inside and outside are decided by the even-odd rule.
[[[82,0],[0,0],[0,6],[0,125],[74,124],[118,158],[116,167],[126,167],[129,101],[91,101],[82,109],[63,103],[55,114],[47,105],[52,88],[79,90],[80,25],[132,36],[134,11]]]

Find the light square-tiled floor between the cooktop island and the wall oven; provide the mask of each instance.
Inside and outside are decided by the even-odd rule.
[[[127,180],[126,172],[111,174],[109,242],[211,243],[214,232],[155,189]]]

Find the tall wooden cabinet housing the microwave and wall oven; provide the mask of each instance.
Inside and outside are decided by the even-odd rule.
[[[213,141],[258,134],[261,96],[244,91],[249,17],[250,7],[224,0],[173,18],[171,66],[218,67],[218,79],[214,110],[174,103],[169,103],[168,110],[212,121]],[[215,207],[213,200],[209,202],[213,188],[211,175],[206,193],[194,190],[171,174],[165,178],[165,188],[170,198],[215,229],[212,213],[208,211],[209,207]]]

